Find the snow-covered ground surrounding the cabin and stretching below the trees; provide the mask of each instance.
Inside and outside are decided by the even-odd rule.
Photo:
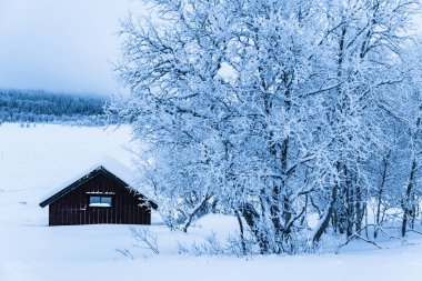
[[[384,249],[360,242],[341,254],[195,257],[178,242],[200,243],[211,231],[237,231],[227,217],[205,217],[189,234],[153,217],[160,254],[137,247],[128,225],[46,227],[40,199],[80,167],[107,153],[130,165],[130,129],[0,126],[0,280],[422,280],[422,239]],[[142,244],[138,244],[142,245]]]

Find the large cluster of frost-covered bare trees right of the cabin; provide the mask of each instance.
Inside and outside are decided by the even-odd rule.
[[[243,253],[416,231],[418,0],[147,2],[152,19],[122,22],[131,93],[110,110],[147,144],[169,227],[235,215]]]

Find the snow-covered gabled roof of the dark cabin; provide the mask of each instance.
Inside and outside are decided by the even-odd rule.
[[[73,190],[73,188],[69,189],[69,187],[73,185],[73,183],[83,180],[83,178],[89,178],[89,175],[92,172],[96,172],[98,170],[105,170],[113,175],[115,175],[118,179],[123,181],[128,188],[133,189],[135,187],[135,175],[134,173],[127,168],[124,164],[120,163],[113,158],[110,158],[108,155],[102,155],[101,158],[91,161],[90,163],[87,163],[84,165],[86,168],[82,168],[82,172],[78,173],[77,175],[72,177],[71,179],[68,179],[66,182],[60,184],[58,188],[51,190],[47,195],[44,195],[41,199],[41,207],[44,207],[52,201],[54,201],[57,198],[57,194],[62,193],[60,197],[64,195],[66,193]],[[76,187],[74,187],[76,188]],[[69,190],[67,190],[69,189]],[[133,189],[135,191],[135,189]]]

